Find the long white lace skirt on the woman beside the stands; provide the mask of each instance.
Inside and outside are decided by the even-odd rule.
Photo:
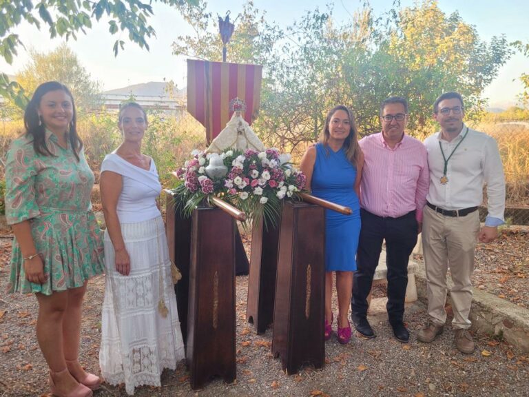
[[[99,365],[107,383],[125,383],[127,394],[134,394],[136,386],[160,386],[163,369],[175,369],[185,353],[161,216],[124,223],[121,233],[131,271],[128,276],[116,272],[114,246],[105,232],[106,280]],[[160,296],[168,309],[165,318],[158,311]]]

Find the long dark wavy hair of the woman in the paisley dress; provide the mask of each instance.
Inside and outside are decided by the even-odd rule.
[[[64,91],[70,99],[72,99],[72,121],[70,121],[70,128],[68,130],[68,136],[70,138],[70,145],[74,150],[74,155],[77,161],[79,161],[79,152],[83,148],[83,141],[79,138],[77,134],[77,112],[75,110],[74,96],[72,92],[68,90],[66,85],[59,83],[58,81],[47,81],[42,83],[35,90],[31,101],[28,103],[28,106],[25,107],[24,112],[24,127],[25,133],[32,136],[33,138],[33,149],[35,153],[42,154],[43,156],[54,156],[48,146],[46,145],[46,126],[41,122],[39,118],[39,105],[41,105],[42,97],[48,92],[51,91]]]

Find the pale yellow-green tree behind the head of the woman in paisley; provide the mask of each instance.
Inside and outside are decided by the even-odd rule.
[[[72,91],[79,110],[91,110],[101,104],[101,85],[91,79],[66,44],[49,53],[30,50],[30,61],[16,80],[28,92],[34,92],[44,81],[60,81]]]

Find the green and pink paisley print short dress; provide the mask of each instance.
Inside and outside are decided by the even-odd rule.
[[[6,220],[9,225],[30,221],[33,241],[44,263],[48,281],[25,278],[22,253],[14,239],[8,292],[41,292],[81,287],[104,271],[103,234],[90,201],[94,174],[68,143],[61,147],[46,131],[46,145],[54,156],[35,153],[32,137],[15,139],[6,162]]]

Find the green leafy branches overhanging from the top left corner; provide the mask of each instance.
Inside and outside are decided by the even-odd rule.
[[[0,56],[12,63],[17,55],[18,45],[23,43],[16,34],[22,21],[37,28],[44,24],[49,27],[50,37],[65,37],[67,40],[81,31],[92,28],[92,21],[99,21],[104,15],[109,18],[108,30],[111,34],[128,32],[129,40],[149,50],[147,39],[156,36],[149,25],[153,14],[151,3],[158,2],[169,6],[183,4],[196,5],[198,0],[0,0]],[[114,42],[114,54],[123,50],[125,41]],[[19,106],[25,106],[27,97],[23,87],[10,82],[6,74],[0,74],[0,95],[13,99]]]

